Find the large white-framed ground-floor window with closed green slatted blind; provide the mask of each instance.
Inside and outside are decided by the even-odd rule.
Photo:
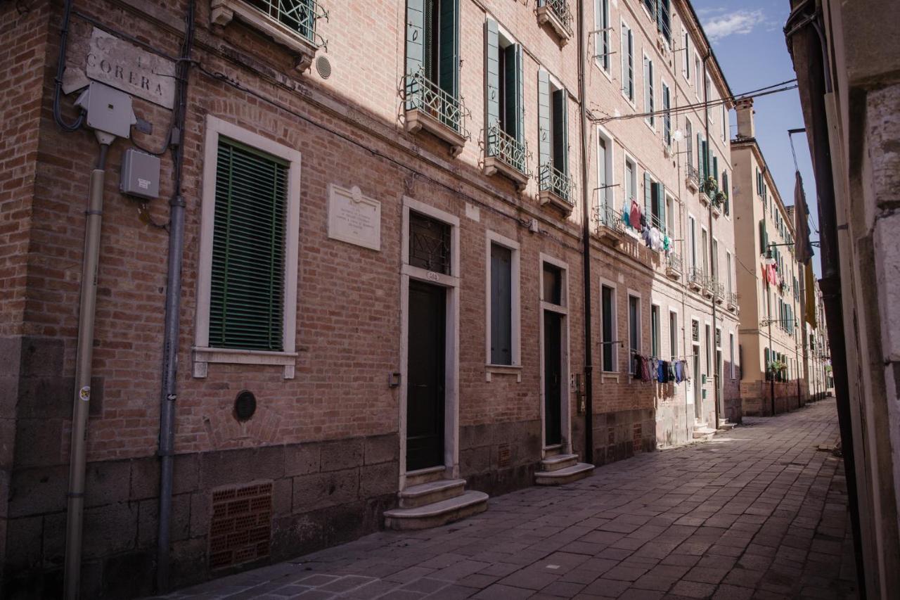
[[[193,375],[238,362],[293,378],[300,152],[212,116],[205,144]]]

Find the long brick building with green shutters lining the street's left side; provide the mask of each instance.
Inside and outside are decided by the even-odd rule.
[[[154,589],[163,530],[179,586],[740,420],[732,94],[687,3],[72,4],[0,5],[4,597],[58,595],[67,490],[82,594],[122,597]],[[108,152],[56,123],[89,82],[137,117]],[[157,198],[121,192],[132,148],[160,160]],[[82,496],[67,473],[96,177]],[[655,250],[623,222],[632,199]],[[686,360],[689,380],[639,381],[634,353]]]

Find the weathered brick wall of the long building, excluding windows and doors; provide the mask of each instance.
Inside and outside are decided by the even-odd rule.
[[[536,23],[534,3],[460,1],[460,89],[471,111],[471,141],[453,157],[444,141],[404,130],[398,89],[404,73],[404,3],[329,3],[329,20],[318,25],[328,40],[330,77],[299,73],[291,52],[251,26],[234,20],[211,23],[210,3],[196,5],[195,63],[189,69],[184,127],[186,202],[181,333],[178,341],[178,395],[175,418],[175,491],[172,523],[172,583],[184,585],[216,577],[209,562],[212,492],[223,486],[271,482],[272,534],[267,559],[346,541],[377,530],[384,510],[396,505],[405,459],[401,388],[388,385],[401,372],[404,344],[404,206],[428,205],[458,220],[459,298],[455,459],[448,474],[491,494],[532,485],[544,457],[541,262],[565,265],[563,319],[563,395],[571,433],[563,446],[582,453],[585,419],[576,394],[576,374],[584,371],[584,305],[581,202],[581,98],[578,43],[561,44],[547,26]],[[576,3],[570,3],[572,7]],[[585,3],[593,23],[593,3]],[[174,57],[184,35],[185,2],[132,0],[76,2],[69,23],[67,65],[84,68],[89,41],[103,31]],[[682,73],[681,54],[661,49],[656,26],[639,3],[610,6],[618,44],[625,19],[635,32],[635,56],[652,56],[671,85],[671,105],[697,103],[695,65]],[[85,235],[85,197],[98,146],[91,132],[61,132],[53,122],[51,96],[58,60],[58,4],[36,0],[19,12],[0,5],[0,55],[8,58],[0,78],[4,89],[4,135],[0,139],[0,561],[4,597],[58,595],[64,552],[74,357],[78,326],[81,259]],[[542,206],[535,177],[524,191],[499,175],[482,173],[485,145],[484,23],[486,15],[521,44],[525,132],[537,170],[538,68],[549,71],[567,95],[569,176],[576,183],[572,214]],[[683,31],[706,55],[707,41],[683,2],[673,3],[671,44],[680,47]],[[592,27],[587,26],[586,30]],[[576,34],[577,35],[577,34]],[[130,36],[134,36],[131,39]],[[589,44],[592,46],[593,42]],[[143,48],[143,50],[148,50]],[[617,55],[610,73],[595,61],[587,65],[585,104],[591,118],[641,112],[640,67],[635,66],[635,105],[620,92]],[[710,99],[730,92],[715,59],[707,60]],[[657,80],[656,106],[660,106]],[[67,118],[75,115],[72,97],[63,99]],[[637,108],[635,108],[635,106]],[[132,130],[141,146],[158,149],[167,134],[170,112],[134,98],[135,113],[152,123],[150,134]],[[710,114],[689,114],[693,135],[701,130],[723,168],[730,165],[727,129],[720,105]],[[202,180],[209,119],[298,150],[302,155],[296,360],[293,378],[278,365],[209,363],[205,377],[193,377],[198,266],[201,261]],[[672,117],[671,129],[684,132],[685,114]],[[707,125],[704,124],[708,119]],[[712,228],[717,241],[716,282],[724,282],[726,252],[734,257],[732,215],[713,214],[687,187],[685,142],[663,148],[662,117],[655,130],[644,119],[590,123],[586,137],[587,189],[599,186],[598,134],[612,149],[612,197],[621,209],[624,157],[635,161],[635,189],[644,196],[644,171],[652,173],[671,200],[674,251],[684,257],[678,277],[667,275],[665,254],[624,234],[617,248],[601,241],[598,195],[588,192],[593,338],[593,462],[603,464],[639,452],[675,446],[693,437],[695,423],[716,426],[715,367],[698,360],[694,373],[697,405],[689,384],[659,385],[627,374],[627,295],[641,297],[641,348],[651,349],[650,305],[659,305],[660,354],[668,358],[707,348],[704,325],[722,330],[718,416],[739,422],[739,368],[733,368],[729,336],[737,357],[737,307],[730,297],[704,295],[687,286],[689,215],[700,229]],[[693,166],[698,149],[693,140]],[[142,205],[118,189],[122,152],[110,150],[103,208],[94,334],[93,393],[87,429],[87,493],[83,566],[84,597],[122,597],[153,590],[157,541],[159,395],[166,293],[166,199],[172,195],[172,159],[162,157],[160,199]],[[730,168],[729,168],[730,170]],[[368,250],[329,238],[329,186],[358,186],[381,203],[381,248]],[[209,190],[206,190],[207,192]],[[500,234],[519,245],[521,360],[516,368],[486,367],[486,236]],[[696,253],[696,265],[704,262]],[[543,257],[543,258],[542,258]],[[707,268],[712,268],[708,266]],[[730,264],[734,270],[734,260]],[[734,273],[732,274],[734,277]],[[600,288],[616,287],[616,368],[601,368]],[[678,315],[678,351],[670,348],[669,314]],[[713,314],[715,311],[715,323]],[[691,319],[700,340],[691,341]],[[734,377],[733,377],[734,373]],[[404,384],[405,385],[405,384]],[[694,388],[691,388],[694,390]],[[239,422],[235,396],[250,390],[257,412]],[[448,442],[450,443],[450,442]],[[582,456],[583,458],[583,456]],[[257,562],[235,568],[247,568]]]

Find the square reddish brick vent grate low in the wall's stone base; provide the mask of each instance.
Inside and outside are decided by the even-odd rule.
[[[211,569],[267,557],[271,541],[271,482],[212,492]]]

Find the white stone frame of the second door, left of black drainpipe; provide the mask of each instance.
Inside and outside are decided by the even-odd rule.
[[[544,264],[553,265],[556,268],[559,268],[563,272],[563,289],[561,290],[562,295],[562,305],[553,305],[544,301]],[[562,336],[562,340],[560,340],[560,351],[562,352],[562,357],[560,357],[563,377],[560,377],[560,423],[561,423],[561,443],[560,450],[564,454],[572,454],[572,403],[569,397],[569,380],[571,378],[571,368],[569,364],[570,360],[570,351],[569,351],[569,263],[555,259],[552,256],[541,252],[538,257],[537,263],[537,273],[538,273],[538,293],[540,297],[540,307],[541,309],[537,314],[537,322],[538,322],[538,336],[537,339],[540,344],[540,366],[539,373],[541,378],[540,390],[539,390],[539,398],[540,398],[540,409],[541,409],[541,459],[546,457],[547,452],[547,443],[546,443],[546,433],[545,433],[545,381],[544,381],[544,313],[545,311],[549,311],[551,313],[556,313],[561,316],[561,325],[560,332]]]

